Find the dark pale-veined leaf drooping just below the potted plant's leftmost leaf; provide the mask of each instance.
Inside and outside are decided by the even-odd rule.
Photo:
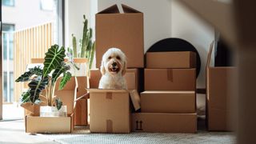
[[[39,94],[46,88],[48,81],[48,77],[42,78],[42,76],[32,79],[32,81],[28,84],[28,86],[30,86],[31,102],[36,102],[39,99]]]

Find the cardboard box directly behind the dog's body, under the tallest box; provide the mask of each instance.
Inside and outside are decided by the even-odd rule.
[[[128,90],[139,90],[139,82],[138,82],[138,69],[126,69],[126,74],[124,75],[126,78],[126,83]],[[98,83],[102,78],[102,74],[100,70],[90,70],[90,88],[97,89]]]

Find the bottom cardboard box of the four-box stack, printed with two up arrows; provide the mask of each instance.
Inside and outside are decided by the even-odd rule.
[[[195,133],[197,114],[134,113],[133,131],[153,133]]]

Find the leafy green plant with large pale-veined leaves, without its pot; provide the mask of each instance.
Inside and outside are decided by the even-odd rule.
[[[65,48],[58,45],[51,46],[46,52],[43,68],[35,66],[30,68],[15,82],[29,82],[29,89],[22,94],[22,103],[30,102],[40,104],[46,101],[48,106],[56,106],[59,110],[62,107],[60,98],[54,99],[54,89],[57,79],[62,75],[59,90],[62,90],[70,80],[70,66],[64,62],[66,57]],[[42,91],[44,90],[44,94]]]

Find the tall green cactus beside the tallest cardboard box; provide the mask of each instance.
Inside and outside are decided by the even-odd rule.
[[[79,40],[79,45],[77,45],[77,38],[72,34],[73,48],[68,48],[67,51],[71,58],[87,58],[86,76],[89,76],[94,61],[95,42],[92,40],[93,30],[91,28],[88,29],[88,19],[86,19],[86,15],[83,15],[83,18],[82,39]]]

